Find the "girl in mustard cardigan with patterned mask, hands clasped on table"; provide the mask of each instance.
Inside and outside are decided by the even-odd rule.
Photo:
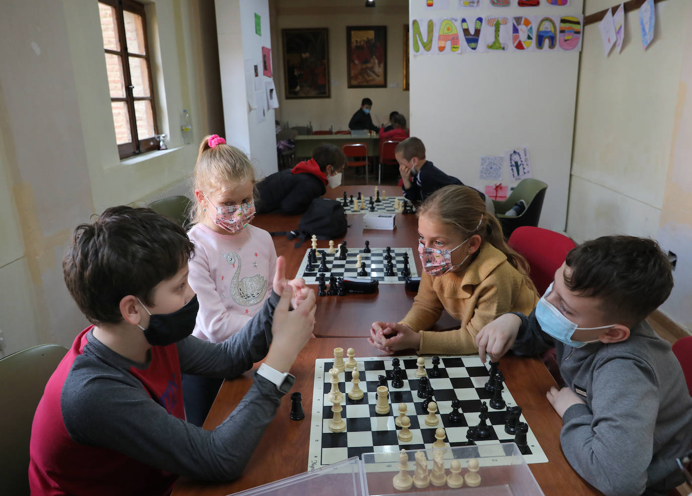
[[[370,344],[392,354],[473,354],[475,336],[507,312],[528,315],[538,294],[529,265],[507,246],[500,222],[486,211],[477,191],[451,185],[430,195],[417,210],[424,274],[413,306],[399,323],[374,322]],[[431,332],[442,309],[459,329]]]

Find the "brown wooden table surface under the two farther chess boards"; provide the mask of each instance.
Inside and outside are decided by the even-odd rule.
[[[401,189],[395,186],[381,186],[380,191],[385,191],[388,196],[401,196]],[[369,197],[374,192],[374,186],[345,186],[330,190],[328,197],[341,198],[343,192],[347,195],[363,195]],[[397,228],[394,231],[381,229],[363,229],[363,214],[346,212],[349,227],[345,238],[334,240],[338,245],[343,239],[347,240],[351,248],[365,246],[365,240],[370,241],[371,247],[410,247],[417,253],[418,246],[418,222],[415,215],[403,215],[397,213]],[[283,216],[270,214],[257,216],[253,225],[272,231],[290,231],[298,229],[300,216]],[[276,254],[286,257],[286,275],[294,277],[300,267],[305,251],[310,247],[307,240],[298,249],[295,248],[295,240],[288,240],[286,236],[273,238]],[[318,241],[318,247],[329,247],[328,241]],[[410,263],[415,263],[418,274],[421,274],[421,260],[416,255]],[[316,286],[315,286],[316,288]],[[320,336],[369,336],[370,325],[375,321],[398,322],[406,315],[413,304],[415,293],[404,289],[403,284],[381,284],[376,294],[349,294],[347,296],[325,296],[318,298],[317,322],[315,335]],[[452,318],[447,312],[443,312],[434,330],[451,329],[459,325],[459,321]]]

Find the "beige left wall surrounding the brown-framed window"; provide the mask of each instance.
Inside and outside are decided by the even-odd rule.
[[[217,59],[203,63],[196,56],[214,32],[207,29],[208,17],[200,16],[212,1],[145,3],[159,126],[171,136],[170,150],[123,161],[109,106],[98,4],[3,4],[0,355],[73,341],[86,325],[62,278],[62,254],[74,227],[192,171],[197,146],[180,146],[182,108],[192,113],[195,140],[222,125],[202,96],[203,88],[213,86]]]

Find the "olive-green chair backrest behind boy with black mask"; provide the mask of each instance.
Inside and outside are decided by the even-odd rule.
[[[3,494],[29,494],[31,424],[46,383],[66,352],[61,345],[38,345],[0,359]]]

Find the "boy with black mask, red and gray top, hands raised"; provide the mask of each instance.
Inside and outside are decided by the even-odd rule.
[[[315,294],[286,281],[223,343],[192,334],[194,247],[149,209],[113,207],[80,225],[63,260],[65,283],[93,324],[49,379],[33,421],[29,482],[41,495],[167,495],[178,475],[240,475],[311,336]],[[289,312],[289,304],[295,308]],[[235,377],[264,359],[255,382],[213,431],[185,421],[181,372]]]

